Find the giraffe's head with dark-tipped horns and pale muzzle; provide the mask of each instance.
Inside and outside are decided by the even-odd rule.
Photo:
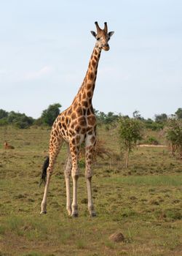
[[[96,46],[103,50],[109,50],[108,40],[114,34],[114,31],[108,32],[108,26],[106,22],[104,23],[104,29],[100,29],[97,21],[95,21],[95,26],[97,33],[95,33],[95,31],[91,31],[91,33],[97,39]]]

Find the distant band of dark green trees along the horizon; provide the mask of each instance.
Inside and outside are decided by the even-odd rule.
[[[31,116],[26,116],[25,113],[19,113],[15,111],[7,112],[6,110],[0,109],[0,126],[11,124],[17,128],[25,129],[31,127],[32,125],[43,126],[47,125],[52,127],[55,118],[60,113],[60,108],[62,106],[60,103],[55,103],[49,105],[49,107],[42,111],[41,116],[37,119],[32,118]],[[95,116],[98,121],[98,125],[102,124],[114,124],[122,116],[121,113],[116,114],[113,112],[104,113],[103,111],[94,110]],[[129,116],[124,116],[129,118]],[[171,116],[167,116],[166,113],[157,114],[154,116],[154,120],[151,118],[143,118],[138,110],[135,110],[132,113],[132,118],[138,119],[145,124],[147,129],[159,130],[165,127],[167,120],[170,118],[182,119],[182,108],[178,108],[175,113]]]

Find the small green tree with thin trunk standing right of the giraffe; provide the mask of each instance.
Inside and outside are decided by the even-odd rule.
[[[135,118],[119,118],[119,143],[126,152],[126,167],[128,168],[129,154],[138,140],[142,139],[143,124]]]

